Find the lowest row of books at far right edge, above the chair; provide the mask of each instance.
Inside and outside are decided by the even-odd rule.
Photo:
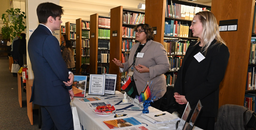
[[[249,110],[255,111],[255,97],[256,93],[245,94],[244,107],[247,107]]]

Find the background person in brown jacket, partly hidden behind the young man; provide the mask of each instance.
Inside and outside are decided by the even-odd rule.
[[[75,67],[74,51],[70,40],[66,41],[66,48],[63,50],[62,58],[64,59],[67,68],[71,71]]]

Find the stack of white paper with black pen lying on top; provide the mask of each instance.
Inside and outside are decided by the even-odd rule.
[[[154,113],[142,114],[141,116],[152,123],[174,121],[176,119],[179,119],[177,116],[172,115],[169,112],[154,112]]]

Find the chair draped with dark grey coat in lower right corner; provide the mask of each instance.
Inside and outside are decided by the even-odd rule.
[[[256,129],[256,113],[244,106],[225,104],[219,107],[215,130]]]

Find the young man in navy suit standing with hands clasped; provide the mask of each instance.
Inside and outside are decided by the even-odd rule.
[[[42,130],[73,130],[70,97],[74,97],[73,73],[62,59],[59,41],[52,32],[59,30],[63,9],[54,3],[37,7],[40,25],[28,42],[28,53],[34,72],[30,102],[41,106]]]

